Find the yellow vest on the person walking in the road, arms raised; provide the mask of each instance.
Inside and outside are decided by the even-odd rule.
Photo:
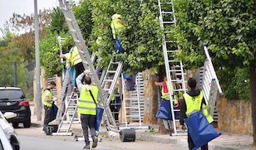
[[[95,85],[90,85],[90,89],[96,103],[98,103],[98,88]],[[77,112],[79,114],[96,115],[96,104],[94,103],[90,92],[86,90],[86,85],[81,87],[81,94],[77,103]]]

